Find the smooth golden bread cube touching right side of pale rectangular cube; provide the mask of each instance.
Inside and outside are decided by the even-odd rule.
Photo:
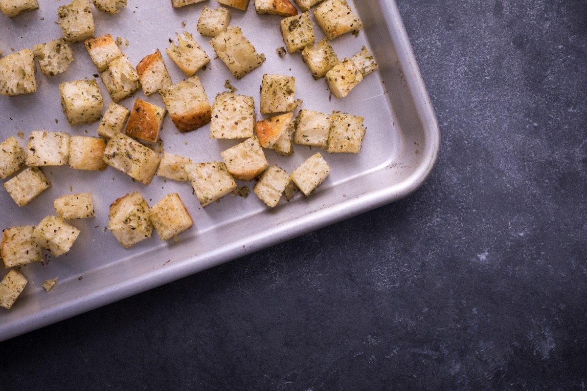
[[[100,137],[72,136],[69,140],[69,166],[73,169],[102,171],[106,141]]]

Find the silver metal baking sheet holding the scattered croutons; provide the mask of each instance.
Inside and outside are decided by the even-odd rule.
[[[59,38],[56,9],[63,1],[43,0],[41,9],[15,18],[0,15],[0,49],[4,55],[31,47],[36,43]],[[188,183],[166,181],[156,177],[150,186],[133,182],[129,176],[109,167],[102,172],[84,172],[68,166],[44,167],[52,186],[28,206],[19,208],[4,189],[0,189],[1,229],[16,225],[36,225],[43,217],[54,215],[53,199],[77,192],[92,192],[96,217],[73,220],[70,224],[81,234],[68,254],[49,257],[43,263],[29,264],[21,271],[29,284],[11,310],[0,308],[0,340],[41,328],[53,322],[92,310],[121,298],[188,276],[251,251],[310,232],[346,217],[365,212],[403,198],[417,189],[430,175],[436,162],[440,134],[433,108],[420,76],[406,31],[393,0],[360,0],[350,5],[365,23],[357,37],[348,34],[332,41],[340,59],[367,46],[379,63],[348,97],[330,97],[324,79],[314,80],[299,53],[281,58],[276,53],[284,46],[279,32],[279,16],[257,15],[254,4],[247,12],[231,8],[231,25],[241,27],[255,48],[265,53],[266,62],[254,72],[235,80],[220,61],[208,38],[196,30],[204,5],[217,6],[206,0],[183,8],[171,8],[168,0],[129,0],[118,15],[107,15],[94,9],[96,36],[106,33],[129,40],[122,51],[136,65],[157,48],[164,52],[168,39],[187,30],[212,58],[205,70],[198,71],[210,102],[225,90],[225,80],[237,87],[239,94],[255,98],[258,112],[259,86],[264,73],[288,74],[296,77],[296,98],[303,99],[301,108],[330,113],[343,111],[365,117],[367,127],[360,154],[328,154],[323,156],[332,172],[322,186],[305,198],[298,193],[289,202],[282,200],[274,209],[267,208],[253,193],[248,198],[225,196],[207,208],[200,207]],[[322,32],[315,26],[316,40]],[[18,138],[23,147],[33,130],[66,131],[72,135],[97,135],[97,123],[71,127],[59,103],[59,83],[95,77],[93,66],[83,43],[73,45],[75,60],[59,76],[38,72],[38,91],[17,97],[0,96],[0,138],[5,140],[22,131]],[[166,54],[164,60],[174,83],[185,79]],[[104,109],[110,97],[99,81]],[[154,94],[136,97],[164,106]],[[131,108],[134,98],[122,101]],[[262,118],[257,113],[257,118]],[[169,117],[164,121],[161,138],[165,151],[191,157],[195,162],[220,160],[220,152],[236,140],[211,140],[209,125],[181,134]],[[295,145],[291,157],[278,157],[266,150],[269,164],[278,164],[291,172],[306,158],[319,151]],[[239,182],[249,186],[254,182]],[[107,226],[109,205],[127,192],[138,191],[150,205],[164,195],[178,192],[194,220],[194,226],[180,235],[180,242],[161,241],[157,234],[124,249]],[[0,267],[3,268],[3,267]],[[8,270],[2,270],[2,276]],[[59,282],[50,292],[41,287],[43,281],[58,276]]]

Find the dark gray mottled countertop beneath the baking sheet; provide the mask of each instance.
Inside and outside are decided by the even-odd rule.
[[[0,388],[585,390],[587,2],[397,0],[409,198],[0,344]]]

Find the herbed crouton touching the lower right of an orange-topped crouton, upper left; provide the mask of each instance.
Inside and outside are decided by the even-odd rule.
[[[116,103],[128,98],[141,87],[139,74],[130,64],[126,56],[116,57],[108,65],[108,69],[100,74],[110,97]]]

